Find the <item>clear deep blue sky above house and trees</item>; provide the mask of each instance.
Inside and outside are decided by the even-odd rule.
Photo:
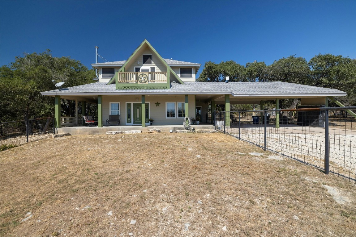
[[[91,68],[96,45],[126,60],[145,38],[199,72],[206,61],[356,58],[356,1],[0,1],[1,65],[50,49]]]

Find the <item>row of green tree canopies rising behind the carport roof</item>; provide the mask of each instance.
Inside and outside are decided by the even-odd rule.
[[[341,55],[318,54],[309,62],[291,55],[268,66],[257,61],[245,66],[232,60],[219,64],[208,61],[197,81],[224,81],[225,76],[230,81],[283,81],[333,88],[347,92],[346,97],[337,98],[339,101],[356,106],[356,59]]]

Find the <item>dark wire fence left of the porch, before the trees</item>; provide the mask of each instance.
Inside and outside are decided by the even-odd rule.
[[[54,134],[54,118],[0,123],[0,145],[21,145]]]

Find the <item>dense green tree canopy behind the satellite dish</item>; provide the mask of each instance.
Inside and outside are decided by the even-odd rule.
[[[56,89],[52,80],[70,87],[91,83],[94,75],[80,61],[53,57],[50,50],[16,56],[0,68],[1,122],[52,116],[54,99],[40,94]]]

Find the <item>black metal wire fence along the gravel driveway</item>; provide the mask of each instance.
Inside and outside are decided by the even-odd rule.
[[[356,107],[216,112],[214,119],[215,130],[356,183]]]

